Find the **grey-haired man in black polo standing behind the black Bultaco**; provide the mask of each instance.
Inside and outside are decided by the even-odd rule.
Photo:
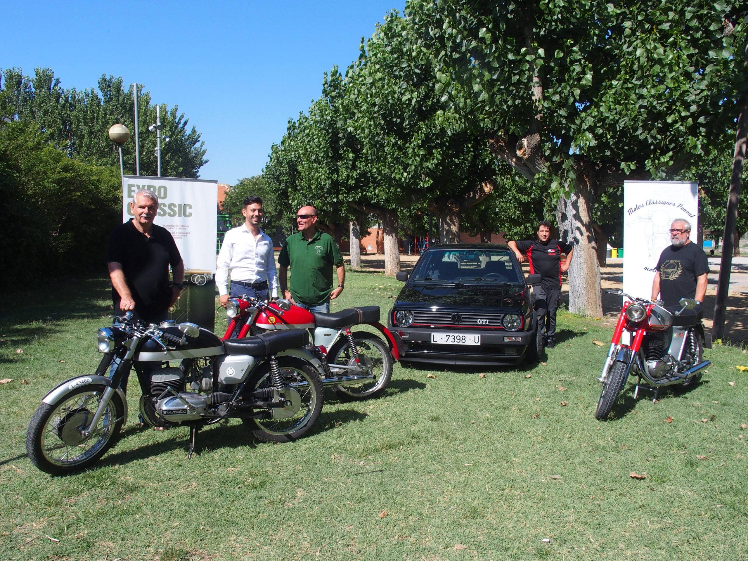
[[[146,323],[158,323],[166,319],[169,306],[183,289],[185,267],[169,230],[153,224],[159,197],[141,189],[132,198],[130,210],[135,218],[112,230],[106,250],[114,315],[132,312]],[[126,389],[127,376],[120,387]]]

